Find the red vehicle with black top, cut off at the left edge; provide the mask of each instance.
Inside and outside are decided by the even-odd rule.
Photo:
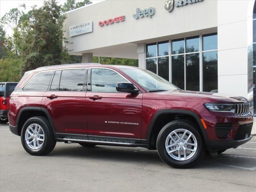
[[[0,82],[0,123],[8,122],[8,110],[10,95],[18,82]]]

